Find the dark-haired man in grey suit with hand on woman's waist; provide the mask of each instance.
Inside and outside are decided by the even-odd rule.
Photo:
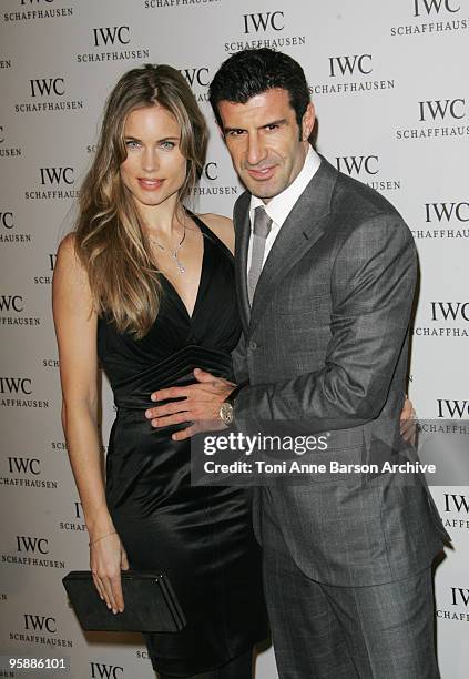
[[[416,283],[409,230],[309,145],[314,108],[286,54],[231,57],[210,98],[247,188],[234,209],[244,326],[234,362],[248,384],[233,392],[197,372],[198,386],[155,398],[186,396],[180,409],[194,422],[218,411],[235,424],[306,419],[330,430],[316,457],[326,466],[395,459]],[[181,422],[167,406],[147,416],[156,426]],[[430,566],[447,535],[425,482],[400,482],[329,473],[256,489],[282,679],[439,676]]]

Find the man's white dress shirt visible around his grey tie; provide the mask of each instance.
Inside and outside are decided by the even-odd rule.
[[[275,243],[275,239],[277,237],[283,223],[292,212],[295,203],[306,189],[306,186],[312,181],[313,176],[319,170],[320,158],[313,149],[309,146],[309,150],[305,158],[305,163],[299,171],[298,176],[292,182],[289,186],[287,186],[282,193],[271,199],[267,205],[264,201],[255,195],[251,196],[251,205],[249,205],[249,222],[251,222],[251,237],[249,237],[249,246],[247,251],[247,271],[251,267],[251,256],[253,249],[253,224],[254,224],[254,210],[259,205],[264,205],[266,213],[272,220],[271,232],[265,242],[265,251],[264,251],[264,260],[268,256],[268,253],[272,250],[273,244]]]

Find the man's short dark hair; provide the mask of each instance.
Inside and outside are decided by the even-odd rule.
[[[220,128],[223,130],[218,113],[221,101],[246,103],[252,97],[273,89],[288,91],[289,104],[302,128],[303,115],[310,100],[305,73],[297,61],[267,48],[243,50],[226,59],[208,89],[210,103]]]

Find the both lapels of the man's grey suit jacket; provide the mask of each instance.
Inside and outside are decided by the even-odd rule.
[[[327,216],[330,212],[330,200],[336,179],[337,171],[325,159],[322,159],[319,170],[282,225],[264,264],[254,294],[249,334],[257,325],[275,287],[323,235],[327,225]],[[249,310],[246,283],[247,245],[249,240],[248,205],[246,212],[247,226],[244,227],[246,233],[243,235],[247,240],[247,244],[245,242],[241,244],[243,256],[238,257],[238,264],[244,266],[241,273],[244,273],[242,278],[244,278],[244,286],[246,288],[245,302],[247,310]]]

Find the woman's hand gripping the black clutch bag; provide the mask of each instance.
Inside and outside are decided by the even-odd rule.
[[[129,570],[128,555],[116,533],[90,544],[90,568],[94,586],[113,614],[124,610],[121,570]]]

